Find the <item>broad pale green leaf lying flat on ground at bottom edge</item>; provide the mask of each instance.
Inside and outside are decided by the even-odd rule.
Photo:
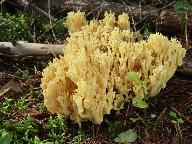
[[[115,142],[118,143],[129,143],[135,142],[137,139],[137,133],[133,129],[129,129],[125,132],[120,133],[115,139]]]

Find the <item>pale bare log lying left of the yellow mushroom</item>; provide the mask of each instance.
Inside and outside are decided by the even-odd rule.
[[[27,43],[24,41],[0,42],[0,54],[16,56],[61,55],[63,45]]]

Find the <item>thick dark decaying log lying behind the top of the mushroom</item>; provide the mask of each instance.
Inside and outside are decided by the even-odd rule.
[[[28,5],[32,4],[44,10],[47,9],[47,0],[22,1],[27,1]],[[175,34],[181,29],[181,21],[179,20],[177,13],[173,11],[171,4],[163,8],[156,8],[153,6],[129,6],[125,4],[120,4],[118,2],[107,2],[103,0],[50,0],[52,11],[62,11],[66,13],[69,11],[76,11],[80,9],[85,11],[87,15],[103,14],[105,11],[110,10],[117,14],[126,12],[129,14],[129,16],[133,17],[136,25],[145,22],[149,23],[150,26],[156,29],[157,31]],[[188,30],[192,31],[192,11],[187,11],[187,13]]]

